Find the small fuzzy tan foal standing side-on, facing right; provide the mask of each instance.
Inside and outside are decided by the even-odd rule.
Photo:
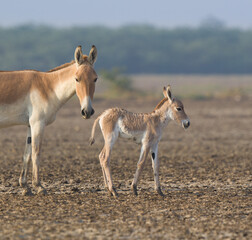
[[[134,194],[137,196],[137,182],[147,155],[150,152],[154,171],[155,190],[159,195],[163,196],[159,183],[158,161],[158,143],[162,132],[169,120],[176,120],[184,129],[190,126],[190,121],[184,111],[182,102],[172,97],[170,85],[164,87],[163,94],[165,98],[151,113],[131,113],[121,108],[111,108],[105,110],[94,122],[90,144],[92,145],[95,142],[95,127],[99,121],[105,141],[99,155],[100,164],[105,186],[115,197],[118,195],[113,186],[109,161],[111,150],[119,136],[132,138],[134,141],[142,144],[137,170],[131,185]]]

